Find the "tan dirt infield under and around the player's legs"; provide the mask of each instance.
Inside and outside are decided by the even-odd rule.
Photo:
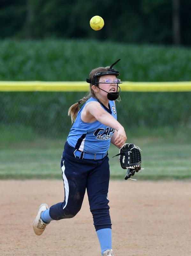
[[[0,181],[1,256],[99,256],[87,195],[81,211],[33,232],[40,203],[63,201],[62,180]],[[115,256],[190,256],[191,181],[110,181]]]

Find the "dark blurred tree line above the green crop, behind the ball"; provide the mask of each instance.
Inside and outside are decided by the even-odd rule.
[[[189,46],[190,10],[191,0],[1,0],[0,38]],[[99,31],[89,25],[95,15],[105,21]]]

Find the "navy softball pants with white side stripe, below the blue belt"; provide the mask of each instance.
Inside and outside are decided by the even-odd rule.
[[[81,209],[87,189],[96,231],[111,228],[107,198],[109,158],[106,155],[100,160],[80,159],[75,157],[74,151],[66,142],[61,161],[65,197],[63,202],[50,207],[50,217],[54,220],[73,218]]]

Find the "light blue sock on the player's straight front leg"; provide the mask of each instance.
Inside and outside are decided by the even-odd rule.
[[[106,250],[112,249],[112,241],[111,241],[111,228],[102,228],[96,231],[99,244],[101,246],[101,255]]]

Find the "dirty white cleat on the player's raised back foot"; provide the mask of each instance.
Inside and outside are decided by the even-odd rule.
[[[39,206],[39,211],[36,215],[36,218],[33,221],[33,229],[34,229],[34,233],[37,236],[40,236],[43,231],[45,230],[46,226],[49,223],[44,223],[41,219],[40,219],[40,215],[42,212],[46,211],[49,208],[48,204],[40,204]]]

